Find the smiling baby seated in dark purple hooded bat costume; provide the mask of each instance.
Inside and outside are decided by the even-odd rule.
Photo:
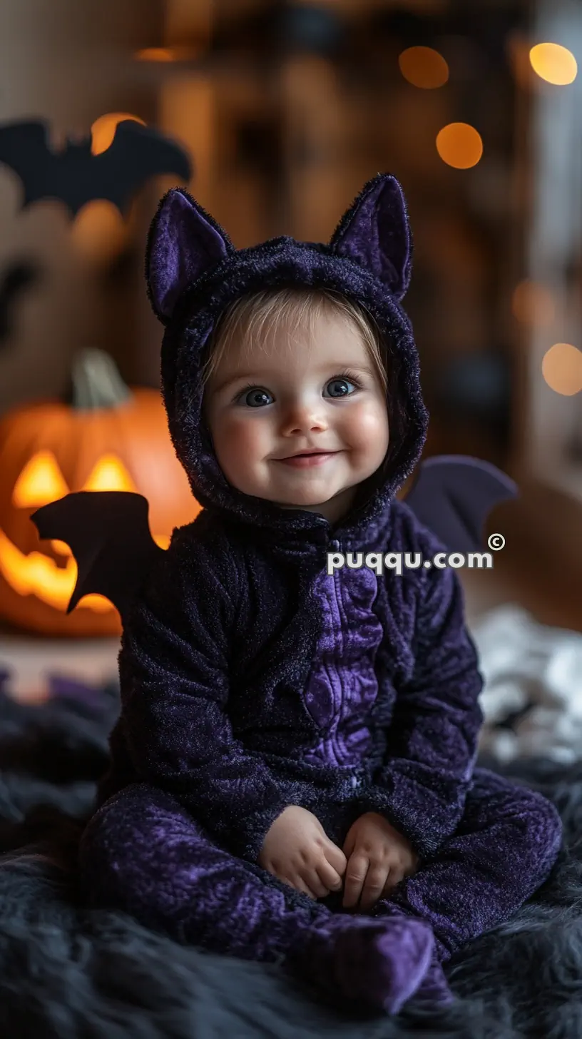
[[[328,244],[237,250],[160,203],[162,390],[204,509],[128,615],[111,767],[80,849],[95,905],[395,1014],[547,879],[561,824],[475,767],[481,677],[454,569],[395,497],[427,415],[378,175]],[[378,576],[351,553],[420,553]],[[327,554],[348,565],[327,574]]]

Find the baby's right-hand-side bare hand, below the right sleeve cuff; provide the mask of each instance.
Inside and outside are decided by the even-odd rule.
[[[418,855],[406,837],[375,811],[350,826],[344,841],[347,855],[343,904],[371,909],[375,902],[418,869]]]

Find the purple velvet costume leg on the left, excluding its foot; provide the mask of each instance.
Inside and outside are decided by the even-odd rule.
[[[92,904],[122,908],[185,944],[243,958],[279,959],[323,909],[229,854],[173,797],[144,783],[115,794],[92,817],[80,865]]]

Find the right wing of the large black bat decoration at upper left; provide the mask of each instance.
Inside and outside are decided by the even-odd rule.
[[[91,167],[96,186],[90,197],[107,198],[121,213],[150,177],[174,174],[187,182],[193,169],[180,144],[134,119],[117,124],[111,144],[94,156]]]

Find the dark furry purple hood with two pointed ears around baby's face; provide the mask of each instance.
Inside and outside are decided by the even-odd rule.
[[[227,522],[252,525],[261,537],[326,540],[332,526],[305,509],[280,509],[245,495],[222,474],[202,416],[201,368],[224,308],[266,287],[313,286],[364,305],[388,337],[392,399],[390,446],[382,465],[361,484],[349,513],[335,525],[344,543],[373,544],[386,530],[390,501],[413,471],[428,415],[412,326],[401,307],[412,267],[406,204],[398,181],[378,174],[365,184],[327,244],[283,236],[237,249],[228,234],[181,188],[161,199],[148,239],[146,276],[152,307],[165,325],[162,394],[176,453],[192,492]]]

